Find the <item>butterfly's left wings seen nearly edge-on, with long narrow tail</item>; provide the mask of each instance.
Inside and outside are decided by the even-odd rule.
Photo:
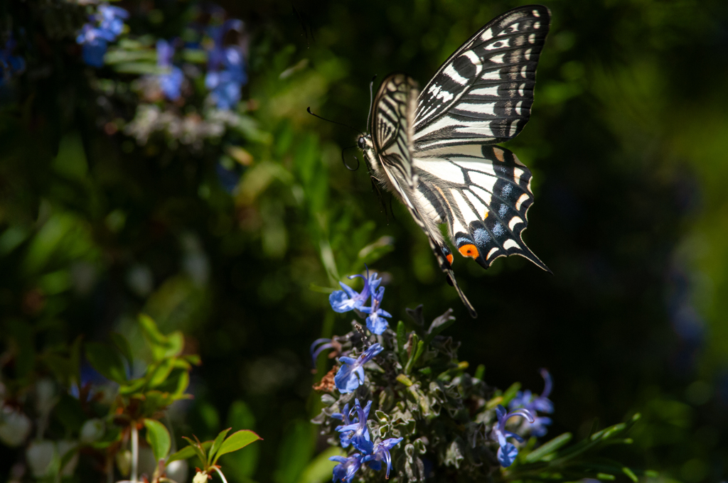
[[[380,180],[397,193],[412,218],[427,235],[440,269],[448,276],[470,316],[476,317],[478,314],[475,308],[455,280],[450,265],[452,255],[438,228],[440,222],[432,213],[425,211],[417,200],[417,186],[420,183],[413,172],[410,144],[416,95],[416,82],[404,74],[392,74],[382,81],[372,106],[373,156],[378,158],[374,161],[373,169],[377,175],[384,177]]]

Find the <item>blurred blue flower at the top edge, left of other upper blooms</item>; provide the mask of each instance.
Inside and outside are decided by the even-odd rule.
[[[100,4],[96,13],[89,16],[76,43],[83,46],[82,56],[84,62],[92,67],[103,66],[103,55],[109,42],[113,42],[124,30],[124,19],[129,18],[129,12],[121,7],[111,7],[109,4]]]

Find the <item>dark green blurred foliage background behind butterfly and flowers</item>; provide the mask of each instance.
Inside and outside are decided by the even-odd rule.
[[[620,458],[662,481],[727,477],[728,3],[547,3],[531,121],[507,148],[534,173],[523,238],[553,275],[522,258],[488,271],[456,258],[475,320],[405,209],[395,200],[389,212],[363,164],[342,164],[356,133],[306,107],[363,130],[372,76],[424,85],[519,3],[218,4],[245,23],[235,41],[248,76],[242,121],[218,135],[155,131],[137,73],[84,66],[82,7],[1,7],[3,28],[23,25],[20,44],[33,46],[0,87],[4,377],[21,363],[41,371],[12,360],[23,345],[40,357],[112,331],[140,343],[134,320],[149,314],[202,358],[194,400],[173,406],[180,434],[253,429],[264,442],[240,452],[230,479],[295,483],[326,447],[309,423],[322,374],[309,343],[350,330],[328,292],[368,262],[387,276],[393,320],[420,303],[428,320],[455,309],[460,358],[485,364],[489,384],[538,393],[547,367],[551,436],[641,412]],[[186,1],[115,5],[140,38],[179,35],[200,15]],[[194,94],[144,102],[199,121]],[[1,452],[0,479],[15,457]]]

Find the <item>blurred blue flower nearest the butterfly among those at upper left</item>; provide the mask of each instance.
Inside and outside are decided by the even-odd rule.
[[[205,87],[210,89],[220,109],[232,109],[240,101],[240,88],[248,82],[240,46],[223,46],[226,33],[231,30],[242,32],[242,28],[241,20],[232,19],[209,31],[213,48],[207,52]]]

